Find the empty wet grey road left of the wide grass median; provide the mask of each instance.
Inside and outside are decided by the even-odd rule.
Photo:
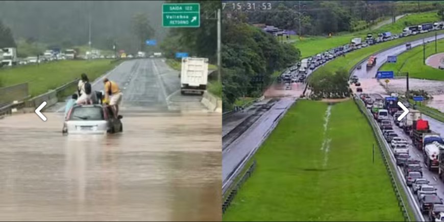
[[[294,101],[290,98],[280,99],[222,152],[223,183],[226,183],[242,159],[261,143],[276,118]]]

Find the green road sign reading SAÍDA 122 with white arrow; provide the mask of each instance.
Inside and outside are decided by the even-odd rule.
[[[163,27],[200,27],[201,6],[199,3],[163,4]]]

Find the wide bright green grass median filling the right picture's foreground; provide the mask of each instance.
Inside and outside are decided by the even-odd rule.
[[[403,219],[379,149],[372,163],[375,138],[354,102],[333,105],[324,132],[327,109],[302,100],[289,110],[224,221]]]

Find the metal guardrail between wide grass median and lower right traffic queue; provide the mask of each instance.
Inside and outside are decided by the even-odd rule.
[[[389,153],[390,148],[388,147],[388,144],[386,144],[387,142],[385,141],[385,139],[382,137],[382,132],[380,131],[379,127],[377,126],[377,123],[373,119],[373,116],[371,116],[369,114],[369,111],[365,108],[364,102],[360,98],[357,98],[356,96],[354,97],[354,101],[358,106],[359,111],[366,117],[365,119],[367,120],[368,124],[372,127],[373,134],[376,137],[377,145],[381,152],[382,160],[384,161],[387,173],[390,177],[390,182],[393,187],[393,191],[396,195],[396,198],[398,200],[398,206],[400,207],[401,213],[403,214],[404,221],[413,221],[412,218],[410,218],[410,215],[407,211],[406,201],[401,195],[401,190],[402,190],[401,187],[403,188],[403,191],[407,195],[408,198],[407,201],[411,205],[415,205],[414,204],[415,200],[405,182],[404,183],[401,182],[404,181],[404,178],[399,169],[397,168],[396,162],[393,161],[393,158],[387,157],[387,155],[390,155]],[[412,209],[414,209],[413,213],[415,214],[416,217],[414,221],[425,221],[421,213],[421,210],[417,207],[417,205],[415,207],[412,207]]]

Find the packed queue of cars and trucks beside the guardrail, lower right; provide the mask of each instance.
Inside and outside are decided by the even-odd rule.
[[[421,212],[428,216],[430,221],[444,221],[444,199],[438,195],[437,188],[432,184],[439,183],[439,180],[443,179],[444,141],[441,135],[432,131],[421,112],[409,108],[407,102],[402,103],[409,112],[403,118],[399,118],[404,114],[404,110],[398,105],[400,99],[396,93],[391,93],[385,98],[366,93],[361,93],[359,97],[378,122],[382,135],[391,148],[396,164],[402,169],[405,183],[415,196]],[[410,148],[420,151],[422,161],[414,158],[415,155],[410,152]],[[423,165],[429,172],[423,171]],[[426,179],[425,173],[437,174],[437,181]]]

